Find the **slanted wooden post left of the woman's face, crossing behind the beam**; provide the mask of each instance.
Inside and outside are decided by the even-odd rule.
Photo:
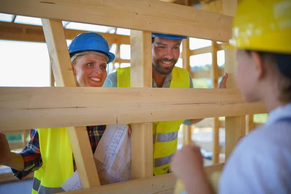
[[[62,21],[42,19],[57,86],[76,86]],[[82,188],[99,186],[97,169],[86,127],[68,127],[74,159]]]

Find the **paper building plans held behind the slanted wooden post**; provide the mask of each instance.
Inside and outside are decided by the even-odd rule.
[[[101,185],[131,180],[131,142],[127,125],[108,125],[98,143],[94,160]],[[81,189],[76,171],[62,185],[65,191]]]

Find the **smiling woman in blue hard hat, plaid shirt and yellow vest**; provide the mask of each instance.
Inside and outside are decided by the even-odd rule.
[[[101,87],[107,77],[107,65],[115,58],[106,39],[95,32],[81,33],[68,49],[78,86]],[[106,126],[86,128],[94,154]],[[14,153],[0,132],[0,164],[11,167],[13,175],[19,179],[34,172],[32,194],[64,191],[62,184],[77,170],[67,129],[31,129],[30,134],[31,140],[22,152]]]

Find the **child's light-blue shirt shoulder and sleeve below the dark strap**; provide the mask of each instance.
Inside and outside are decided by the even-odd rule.
[[[274,189],[291,189],[286,184],[291,182],[288,176],[291,174],[291,143],[281,144],[274,135],[266,135],[270,132],[268,128],[261,127],[238,143],[224,167],[219,183],[221,193],[269,193]]]

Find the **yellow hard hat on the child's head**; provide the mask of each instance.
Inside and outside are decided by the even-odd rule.
[[[226,47],[291,53],[291,0],[242,0]]]

